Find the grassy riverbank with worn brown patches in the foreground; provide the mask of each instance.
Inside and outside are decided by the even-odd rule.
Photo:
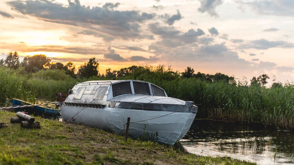
[[[166,145],[128,139],[87,127],[35,117],[41,129],[10,124],[0,112],[0,164],[254,164],[227,157],[196,156]]]

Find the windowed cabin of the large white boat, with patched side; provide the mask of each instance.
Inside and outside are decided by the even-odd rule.
[[[161,87],[152,83],[138,80],[102,80],[77,83],[65,102],[107,105],[108,101],[131,101],[141,98],[140,96],[167,97]]]

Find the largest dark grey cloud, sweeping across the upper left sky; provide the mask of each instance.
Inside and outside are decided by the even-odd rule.
[[[123,40],[143,39],[141,24],[152,19],[155,14],[139,11],[114,10],[119,3],[106,3],[102,7],[82,6],[79,0],[64,6],[50,0],[26,0],[7,2],[11,9],[24,15],[36,17],[43,21],[86,28],[88,33],[109,41],[114,38]],[[83,33],[83,34],[88,34]]]

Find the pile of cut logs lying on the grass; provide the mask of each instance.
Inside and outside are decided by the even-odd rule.
[[[35,122],[35,118],[26,112],[17,112],[17,117],[11,117],[10,123],[20,123],[22,128],[41,128],[40,122]]]

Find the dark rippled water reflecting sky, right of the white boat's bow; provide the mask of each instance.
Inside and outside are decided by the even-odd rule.
[[[231,122],[195,120],[183,138],[188,152],[257,164],[294,164],[294,132]]]

